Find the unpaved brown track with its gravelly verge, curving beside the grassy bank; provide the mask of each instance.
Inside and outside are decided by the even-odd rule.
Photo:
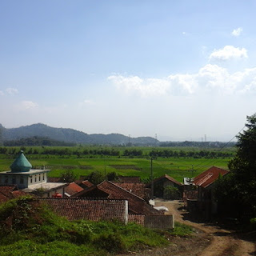
[[[253,256],[256,255],[255,235],[236,234],[230,230],[205,223],[192,222],[183,210],[183,203],[158,199],[155,206],[166,206],[166,214],[174,214],[174,220],[193,226],[197,231],[192,238],[170,238],[170,246],[142,252],[130,252],[122,256]],[[121,255],[119,255],[121,256]]]

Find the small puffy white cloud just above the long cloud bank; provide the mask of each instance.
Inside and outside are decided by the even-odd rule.
[[[222,49],[214,50],[210,54],[210,60],[222,60],[226,61],[234,58],[248,58],[246,48],[238,48],[234,46],[225,46]]]

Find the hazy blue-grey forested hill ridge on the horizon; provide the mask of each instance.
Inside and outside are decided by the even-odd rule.
[[[1,142],[19,140],[21,138],[31,138],[34,136],[51,138],[60,142],[87,145],[126,145],[132,143],[133,145],[152,146],[158,144],[158,140],[151,137],[129,138],[122,134],[86,134],[82,131],[54,128],[42,123],[11,129],[6,129],[0,124],[0,144]]]

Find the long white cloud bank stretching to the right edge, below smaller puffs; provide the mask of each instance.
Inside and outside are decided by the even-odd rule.
[[[246,94],[256,93],[256,67],[230,73],[222,66],[207,64],[194,74],[171,74],[167,78],[125,77],[108,78],[118,90],[138,93],[142,97],[190,94]]]

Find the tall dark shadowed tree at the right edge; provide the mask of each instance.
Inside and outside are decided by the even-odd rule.
[[[248,221],[256,215],[256,114],[247,117],[237,148],[230,174],[219,178],[215,191],[222,213]]]

